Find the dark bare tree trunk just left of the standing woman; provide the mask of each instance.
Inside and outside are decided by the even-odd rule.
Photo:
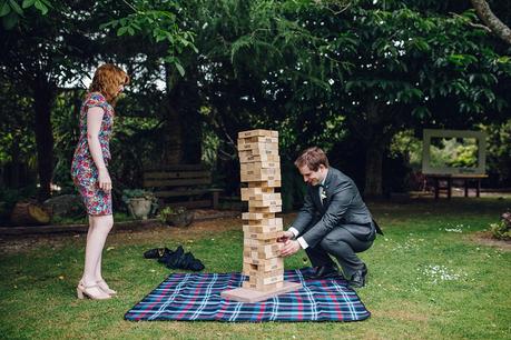
[[[33,87],[33,110],[36,112],[37,169],[39,174],[39,199],[50,197],[53,176],[53,131],[51,129],[51,107],[57,96],[57,86],[39,76]]]

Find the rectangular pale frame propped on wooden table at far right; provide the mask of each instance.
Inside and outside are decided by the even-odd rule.
[[[465,130],[424,129],[424,174],[484,174],[487,133]]]

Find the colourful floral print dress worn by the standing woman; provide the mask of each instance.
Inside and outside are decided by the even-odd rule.
[[[111,214],[111,192],[99,188],[98,169],[90,154],[87,141],[87,111],[90,108],[99,107],[105,113],[99,130],[99,143],[105,164],[110,160],[109,141],[114,127],[114,108],[107,102],[101,93],[92,92],[87,94],[80,109],[80,139],[78,141],[71,164],[71,177],[77,187],[87,213],[91,216]]]

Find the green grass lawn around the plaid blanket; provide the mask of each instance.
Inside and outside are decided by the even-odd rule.
[[[141,253],[184,244],[206,271],[240,270],[240,220],[200,222],[109,237],[104,271],[120,292],[108,301],[77,300],[85,236],[2,240],[2,339],[510,339],[511,252],[474,236],[510,207],[510,198],[451,202],[374,202],[384,228],[361,257],[370,281],[358,294],[363,322],[128,322],[124,313],[169,273]],[[285,216],[288,224],[293,214]],[[301,252],[286,268],[309,266]]]

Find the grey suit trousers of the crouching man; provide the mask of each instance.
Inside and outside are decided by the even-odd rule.
[[[374,241],[375,230],[372,228],[367,238],[356,238],[347,229],[365,229],[364,226],[340,226],[332,229],[316,247],[305,249],[314,267],[333,266],[334,262],[328,254],[332,254],[341,264],[346,279],[364,268],[364,262],[356,256],[357,252],[367,250]],[[362,239],[362,240],[361,240]]]

